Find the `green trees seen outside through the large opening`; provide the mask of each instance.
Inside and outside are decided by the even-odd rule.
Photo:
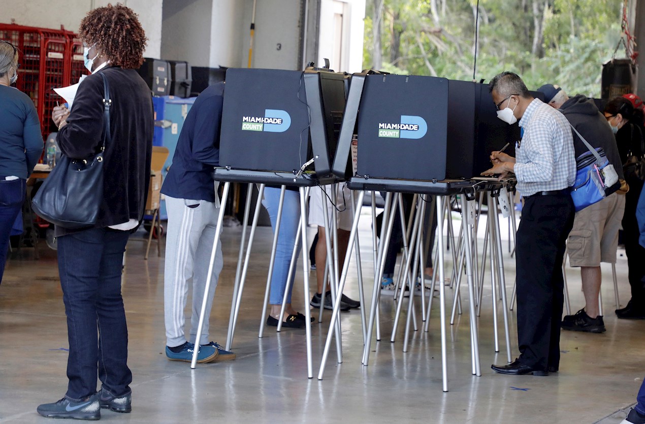
[[[517,72],[531,90],[600,97],[620,39],[622,0],[368,0],[364,66],[471,81]],[[475,44],[475,19],[479,37]],[[377,37],[380,31],[380,37]],[[380,55],[373,52],[380,48]],[[619,50],[616,57],[624,57]],[[380,61],[380,63],[379,63]]]

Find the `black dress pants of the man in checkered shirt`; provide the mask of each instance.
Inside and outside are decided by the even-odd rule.
[[[560,364],[562,258],[574,214],[568,193],[533,195],[526,198],[517,229],[519,360],[538,369]]]

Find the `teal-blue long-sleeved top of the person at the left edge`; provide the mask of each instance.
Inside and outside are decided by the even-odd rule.
[[[0,85],[0,176],[26,179],[42,153],[34,102],[23,92]]]

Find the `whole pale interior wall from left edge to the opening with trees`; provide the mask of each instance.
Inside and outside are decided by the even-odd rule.
[[[146,57],[186,60],[194,66],[246,67],[253,0],[121,0],[139,14],[148,36]],[[257,1],[253,68],[301,70],[310,60],[329,57],[332,1],[344,3],[344,61],[337,70],[362,67],[365,0],[307,0],[308,47],[301,52],[303,8],[300,0]],[[115,0],[68,0],[64,7],[48,0],[0,0],[0,23],[77,31],[92,8]],[[318,13],[320,12],[320,13]],[[315,29],[315,32],[312,32]],[[312,38],[319,37],[317,42]]]

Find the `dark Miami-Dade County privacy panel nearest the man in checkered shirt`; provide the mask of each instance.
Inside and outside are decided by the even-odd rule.
[[[359,175],[445,178],[447,79],[368,75],[358,120]]]

